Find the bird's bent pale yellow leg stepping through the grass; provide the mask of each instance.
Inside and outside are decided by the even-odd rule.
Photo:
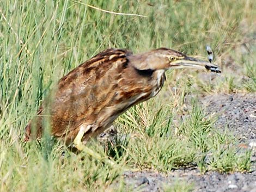
[[[86,145],[84,145],[82,143],[82,138],[84,133],[86,133],[88,130],[90,129],[90,126],[81,126],[79,132],[76,135],[76,138],[74,139],[74,145],[75,147],[79,150],[79,151],[84,151],[87,154],[89,154],[90,156],[92,156],[93,158],[97,159],[97,160],[102,160],[102,157],[99,153],[94,152],[93,150],[91,150],[90,148],[88,148]],[[115,165],[115,162],[113,162],[112,160],[107,159],[107,163],[110,165]]]

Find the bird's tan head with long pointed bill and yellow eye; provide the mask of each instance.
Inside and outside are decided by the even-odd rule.
[[[221,69],[215,64],[207,61],[188,57],[183,53],[168,48],[158,48],[153,51],[135,55],[137,69],[145,70],[168,70],[168,69],[204,69],[220,73]],[[136,64],[135,64],[136,65]]]

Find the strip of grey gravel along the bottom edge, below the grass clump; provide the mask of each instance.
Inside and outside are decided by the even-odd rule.
[[[200,175],[198,170],[175,170],[168,175],[150,171],[126,171],[123,179],[127,189],[132,191],[164,191],[164,186],[173,186],[176,183],[193,183],[194,191],[207,192],[256,192],[256,172],[251,174],[220,174],[208,172]],[[112,187],[117,187],[114,183]]]

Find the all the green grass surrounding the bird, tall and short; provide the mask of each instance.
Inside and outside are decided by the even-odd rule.
[[[73,154],[54,140],[45,141],[47,145],[22,142],[26,123],[51,86],[107,47],[129,48],[135,53],[170,47],[204,57],[204,47],[210,44],[216,63],[225,64],[231,55],[243,75],[252,79],[232,89],[255,91],[255,59],[251,59],[255,49],[236,56],[241,55],[236,48],[246,38],[255,40],[253,1],[81,2],[148,17],[103,13],[68,0],[0,1],[0,191],[104,191],[122,173],[86,154]],[[122,145],[121,157],[115,158],[119,165],[164,172],[195,165],[202,171],[247,171],[249,155],[238,157],[234,148],[222,151],[222,144],[235,139],[227,135],[220,141],[223,135],[211,133],[213,119],[205,120],[200,109],[194,107],[185,121],[174,119],[185,112],[184,95],[193,91],[192,84],[198,85],[199,92],[230,90],[226,82],[232,76],[225,72],[228,66],[223,69],[222,77],[227,78],[213,82],[202,81],[194,72],[190,72],[193,76],[185,71],[169,72],[159,96],[121,116],[119,131],[136,134],[139,139]],[[170,91],[173,86],[178,91]],[[166,107],[164,103],[168,103]],[[206,126],[203,131],[202,126]],[[115,155],[115,150],[107,153],[97,142],[92,145],[103,157],[104,153]],[[209,152],[210,163],[204,159]],[[233,158],[226,158],[230,156]],[[226,169],[230,162],[233,164]]]

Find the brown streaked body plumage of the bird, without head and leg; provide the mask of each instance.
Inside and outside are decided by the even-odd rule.
[[[137,100],[149,97],[152,88],[145,87],[147,78],[139,79],[137,70],[129,65],[127,55],[131,54],[124,49],[107,49],[61,78],[51,104],[43,102],[39,114],[42,116],[34,117],[32,121],[36,123],[29,122],[26,127],[27,139],[32,126],[37,137],[41,135],[42,117],[50,115],[52,134],[65,138],[67,143],[74,140],[81,125],[94,125],[95,131],[84,136],[87,140],[110,126]],[[140,96],[142,91],[148,94]],[[44,114],[45,108],[50,114]]]

